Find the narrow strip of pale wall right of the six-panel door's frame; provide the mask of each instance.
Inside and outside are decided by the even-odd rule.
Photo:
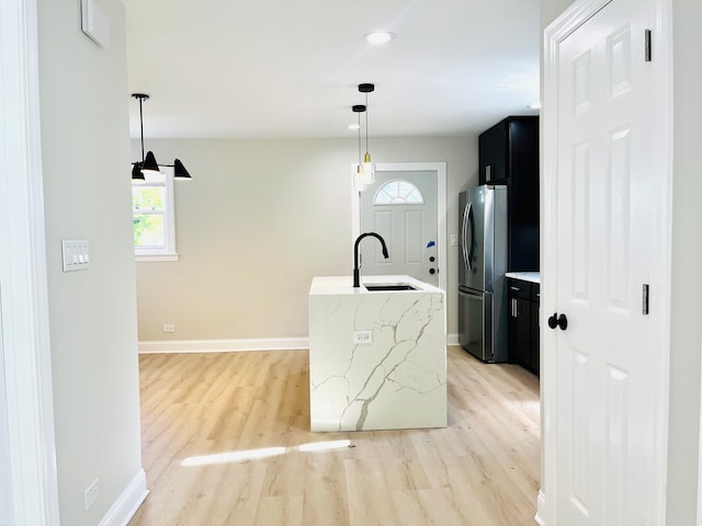
[[[668,521],[695,524],[702,339],[702,3],[672,0],[673,180]],[[655,53],[655,52],[654,52]]]

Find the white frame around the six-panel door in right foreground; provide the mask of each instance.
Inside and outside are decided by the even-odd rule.
[[[556,289],[553,284],[557,276],[557,239],[555,230],[550,228],[555,225],[557,218],[557,184],[558,184],[558,76],[559,56],[558,48],[575,30],[593,16],[610,1],[616,0],[578,0],[573,3],[554,23],[544,32],[544,83],[542,122],[542,194],[541,194],[541,490],[537,496],[536,523],[555,526],[556,502],[556,334],[547,330],[546,318],[555,312],[557,304]],[[661,240],[660,250],[671,253],[671,213],[672,213],[672,34],[670,31],[669,7],[670,0],[654,0],[656,4],[655,23],[653,30],[654,59],[664,61],[666,75],[656,76],[655,90],[660,94],[656,104],[652,104],[647,111],[654,112],[655,126],[652,133],[656,134],[654,144],[659,146],[656,152],[656,170],[664,173],[665,182],[656,192],[660,196],[658,208],[652,210],[658,226],[656,236]],[[660,268],[661,279],[666,290],[659,290],[656,299],[656,308],[666,315],[665,327],[661,328],[664,341],[661,348],[661,386],[664,391],[657,401],[657,407],[652,408],[659,415],[660,425],[657,426],[655,480],[660,482],[661,494],[658,495],[660,506],[659,516],[655,524],[665,524],[665,487],[667,473],[668,451],[668,369],[670,355],[670,258]]]

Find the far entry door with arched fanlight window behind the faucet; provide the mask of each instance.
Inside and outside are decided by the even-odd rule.
[[[433,173],[382,172],[361,194],[361,232],[377,232],[387,244],[365,239],[359,247],[361,275],[409,275],[439,285],[437,178]]]

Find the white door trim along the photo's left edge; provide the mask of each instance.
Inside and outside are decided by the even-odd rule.
[[[12,524],[59,524],[36,0],[0,2],[0,352]],[[0,398],[0,402],[2,399]]]

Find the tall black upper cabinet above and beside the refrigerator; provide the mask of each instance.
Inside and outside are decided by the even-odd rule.
[[[480,184],[508,186],[508,270],[539,270],[539,117],[512,116],[478,137]]]

